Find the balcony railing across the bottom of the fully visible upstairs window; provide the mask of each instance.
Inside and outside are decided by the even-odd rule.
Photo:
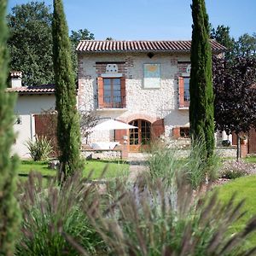
[[[96,108],[126,108],[125,96],[95,96]]]

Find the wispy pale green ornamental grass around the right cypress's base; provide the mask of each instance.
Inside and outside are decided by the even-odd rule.
[[[165,183],[172,188],[177,182],[175,178],[177,172],[186,175],[193,189],[199,189],[207,179],[214,181],[218,178],[220,158],[217,154],[212,154],[211,165],[207,166],[207,159],[202,158],[203,154],[201,154],[204,148],[203,143],[198,141],[189,158],[181,158],[180,151],[172,148],[154,149],[148,158],[150,177],[153,180],[164,178]]]

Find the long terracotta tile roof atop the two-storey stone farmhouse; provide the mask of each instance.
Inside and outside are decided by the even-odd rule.
[[[210,41],[212,50],[223,52],[226,48],[215,40]],[[86,53],[110,52],[189,52],[191,41],[80,41],[77,51]]]

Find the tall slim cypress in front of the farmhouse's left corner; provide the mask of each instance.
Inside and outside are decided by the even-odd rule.
[[[71,60],[71,44],[61,0],[54,0],[52,24],[55,70],[55,97],[58,112],[57,137],[61,151],[61,180],[82,168],[79,154],[79,113],[76,108],[76,85]]]

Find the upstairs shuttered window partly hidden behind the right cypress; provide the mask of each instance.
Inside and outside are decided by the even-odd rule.
[[[179,98],[179,108],[189,107],[189,77],[179,77],[178,78],[178,98]]]

